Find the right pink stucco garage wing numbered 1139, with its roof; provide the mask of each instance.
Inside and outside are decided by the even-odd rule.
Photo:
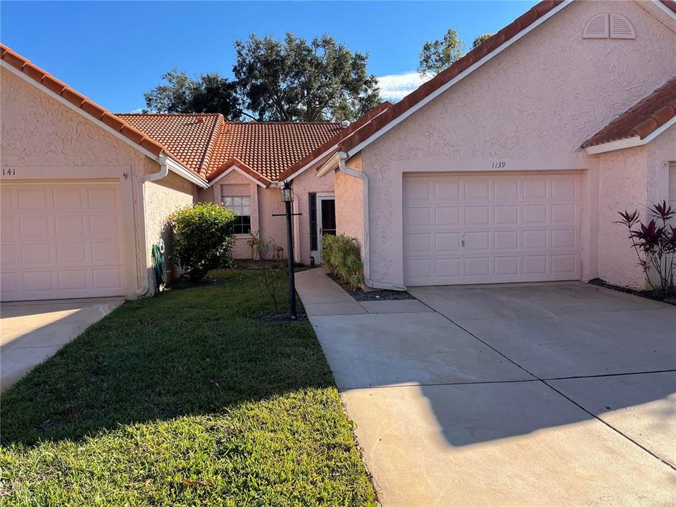
[[[345,132],[317,175],[366,284],[644,287],[615,220],[676,206],[675,77],[676,2],[543,1]]]

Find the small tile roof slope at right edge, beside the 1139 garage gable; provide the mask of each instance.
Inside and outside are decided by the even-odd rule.
[[[645,139],[675,116],[676,77],[672,77],[663,86],[587,139],[582,143],[582,148],[630,137]]]

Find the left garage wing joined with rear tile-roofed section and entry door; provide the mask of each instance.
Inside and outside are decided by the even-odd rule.
[[[239,215],[237,258],[251,258],[249,232],[285,256],[273,215],[291,167],[296,261],[320,262],[322,234],[335,230],[333,178],[295,163],[349,126],[113,114],[5,46],[1,80],[3,301],[150,294],[165,219],[196,201]]]

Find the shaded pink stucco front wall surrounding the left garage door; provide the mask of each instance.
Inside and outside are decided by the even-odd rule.
[[[130,283],[134,287],[128,287],[127,294],[134,297],[146,276],[140,241],[141,184],[144,175],[157,172],[160,165],[11,71],[3,68],[0,78],[1,164],[18,168],[16,179],[62,179],[75,174],[97,177],[106,173],[114,175],[123,189],[129,189],[129,209],[123,210],[123,217],[125,227],[133,223],[131,237],[127,238],[132,245],[125,245],[125,251],[132,253],[125,260],[126,269],[135,271],[135,283]]]

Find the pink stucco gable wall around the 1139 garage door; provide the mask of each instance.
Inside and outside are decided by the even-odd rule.
[[[630,20],[635,40],[582,39],[587,21],[609,11]],[[574,2],[515,42],[363,151],[372,279],[403,282],[403,172],[491,170],[496,160],[506,170],[593,170],[597,161],[580,144],[675,68],[676,34],[630,1]],[[583,232],[583,241],[593,235]],[[592,247],[583,243],[583,263]]]

